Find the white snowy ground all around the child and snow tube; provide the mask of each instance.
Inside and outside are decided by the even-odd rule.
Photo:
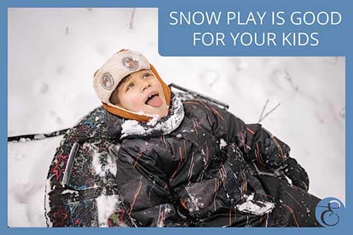
[[[8,135],[73,126],[100,105],[92,75],[121,48],[145,54],[166,83],[229,104],[292,148],[310,193],[345,202],[344,57],[162,57],[157,9],[10,8]],[[8,143],[8,226],[45,227],[44,182],[61,137]]]

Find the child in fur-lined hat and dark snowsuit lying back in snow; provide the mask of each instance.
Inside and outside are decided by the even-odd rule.
[[[131,50],[95,73],[94,88],[108,135],[121,140],[116,184],[138,226],[320,226],[306,171],[260,124],[181,102]]]

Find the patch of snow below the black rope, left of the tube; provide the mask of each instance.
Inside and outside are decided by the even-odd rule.
[[[61,137],[8,143],[8,226],[46,227],[44,188]]]

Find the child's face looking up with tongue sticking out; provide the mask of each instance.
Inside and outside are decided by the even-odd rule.
[[[144,69],[131,73],[117,89],[119,107],[133,112],[158,114],[160,117],[167,115],[162,86],[150,71]]]

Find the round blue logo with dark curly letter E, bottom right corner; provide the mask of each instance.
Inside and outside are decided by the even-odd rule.
[[[337,198],[323,198],[316,205],[316,219],[323,227],[335,226],[340,222],[344,209],[345,205]]]

